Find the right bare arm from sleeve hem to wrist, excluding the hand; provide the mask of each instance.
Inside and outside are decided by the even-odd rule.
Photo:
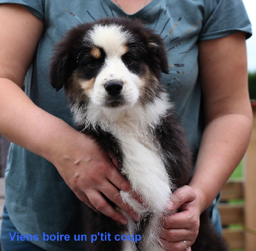
[[[189,186],[200,194],[202,213],[234,172],[250,141],[252,107],[244,33],[202,42],[199,60],[206,127]]]

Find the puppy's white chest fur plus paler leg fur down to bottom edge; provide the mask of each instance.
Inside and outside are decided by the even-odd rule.
[[[170,199],[171,190],[159,148],[146,129],[141,131],[140,135],[116,130],[115,136],[123,151],[122,173],[127,176],[132,188],[141,195],[148,207],[143,208],[127,193],[121,193],[122,198],[140,217],[148,211],[152,213],[142,236],[141,249],[160,251],[162,248],[158,245],[159,217]],[[136,228],[137,225],[130,219],[127,234],[134,234]],[[125,243],[123,251],[130,250],[136,250],[134,243]]]

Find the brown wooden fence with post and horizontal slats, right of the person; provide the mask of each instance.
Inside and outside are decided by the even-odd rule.
[[[225,184],[219,206],[224,238],[231,248],[246,251],[256,250],[256,102],[252,109],[253,132],[244,158],[244,179]]]

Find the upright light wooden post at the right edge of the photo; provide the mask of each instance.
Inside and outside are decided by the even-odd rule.
[[[246,188],[245,188],[245,225],[246,231],[246,251],[255,251],[256,249],[256,103],[252,103],[253,109],[253,130],[250,144],[248,146],[245,158],[246,170]]]

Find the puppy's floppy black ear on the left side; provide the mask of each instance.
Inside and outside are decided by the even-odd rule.
[[[56,52],[54,53],[54,56],[52,57],[51,61],[51,67],[50,67],[50,80],[51,85],[56,89],[56,91],[59,91],[68,80],[68,55],[65,49],[63,49],[65,46],[59,44],[57,45]]]

